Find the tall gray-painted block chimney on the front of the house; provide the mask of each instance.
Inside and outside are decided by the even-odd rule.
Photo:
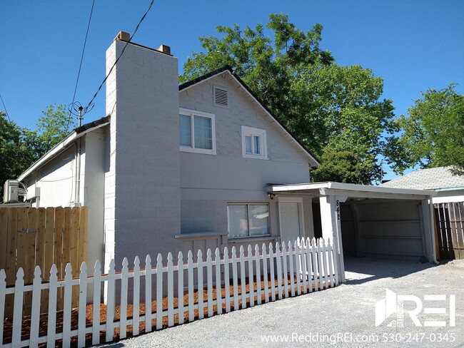
[[[107,73],[127,41],[121,32],[106,51]],[[127,44],[106,81],[105,269],[179,249],[178,61],[163,51]]]

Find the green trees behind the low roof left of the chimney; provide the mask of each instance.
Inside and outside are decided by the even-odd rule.
[[[18,178],[67,135],[68,115],[64,105],[49,106],[42,114],[36,131],[31,131],[19,128],[0,112],[0,200],[6,180]]]

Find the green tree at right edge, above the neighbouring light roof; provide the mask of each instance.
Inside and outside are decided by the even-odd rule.
[[[455,174],[463,175],[464,95],[455,91],[455,85],[422,92],[408,114],[400,116],[402,133],[392,143],[392,149],[402,154],[393,162],[395,169],[451,165]]]

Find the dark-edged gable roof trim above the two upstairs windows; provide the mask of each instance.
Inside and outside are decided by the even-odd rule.
[[[276,116],[273,115],[273,113],[264,105],[264,103],[258,99],[258,97],[255,95],[255,93],[253,93],[253,91],[251,91],[251,89],[248,87],[248,85],[245,82],[243,82],[243,80],[236,74],[235,71],[233,71],[233,68],[231,66],[228,66],[228,65],[223,66],[222,68],[218,68],[216,70],[210,71],[209,73],[206,73],[203,76],[199,76],[198,78],[194,78],[191,81],[187,81],[186,83],[182,83],[181,85],[179,85],[179,92],[184,91],[187,88],[190,88],[192,86],[195,86],[198,83],[209,80],[210,78],[218,76],[219,74],[221,74],[223,72],[229,73],[238,82],[238,84],[243,89],[245,89],[246,93],[248,93],[248,95],[251,96],[251,98],[253,98],[254,101],[256,101],[258,106],[260,106],[263,109],[263,111],[265,111],[268,114],[268,116],[283,130],[283,132],[290,136],[291,140],[293,141],[293,143],[295,143],[296,147],[299,148],[305,155],[308,156],[308,158],[310,159],[311,167],[316,167],[316,166],[319,165],[318,158],[316,158],[316,156],[313,155],[313,153],[311,153],[311,151],[308,150],[308,148],[306,148],[306,146],[303,145],[295,137],[295,135],[293,135],[293,133],[291,133],[291,131],[288,130],[288,128],[286,126],[284,126],[280,121],[278,121]]]

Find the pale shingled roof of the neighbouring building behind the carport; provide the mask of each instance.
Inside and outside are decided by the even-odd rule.
[[[413,188],[422,190],[443,190],[464,188],[464,175],[453,175],[452,167],[437,167],[415,170],[412,173],[383,183],[384,188]]]

